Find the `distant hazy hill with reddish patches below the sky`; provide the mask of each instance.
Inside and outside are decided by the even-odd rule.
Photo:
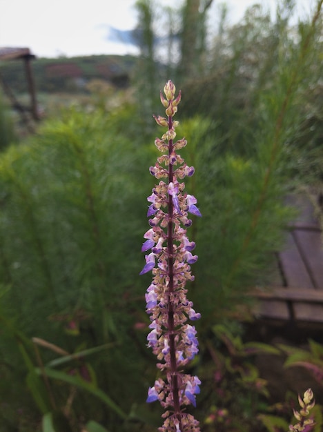
[[[136,61],[131,55],[39,58],[32,61],[32,72],[38,92],[79,92],[92,79],[104,79],[125,88]],[[3,81],[15,93],[27,91],[23,61],[0,61],[0,72]]]

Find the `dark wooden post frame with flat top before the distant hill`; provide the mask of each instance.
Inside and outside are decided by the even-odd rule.
[[[3,87],[3,91],[10,99],[12,107],[17,109],[20,112],[23,121],[25,121],[28,124],[27,121],[28,119],[26,118],[26,111],[31,112],[32,119],[36,121],[39,120],[39,114],[37,110],[36,90],[35,90],[34,79],[32,76],[32,68],[30,66],[30,60],[35,59],[35,55],[33,55],[30,52],[29,48],[0,48],[0,61],[8,61],[8,60],[15,60],[15,59],[21,59],[25,66],[28,91],[30,95],[30,107],[28,108],[23,107],[19,103],[17,98],[14,96],[14,93],[12,92],[11,88],[6,84],[6,82],[1,77],[1,74],[0,74],[0,84]]]

